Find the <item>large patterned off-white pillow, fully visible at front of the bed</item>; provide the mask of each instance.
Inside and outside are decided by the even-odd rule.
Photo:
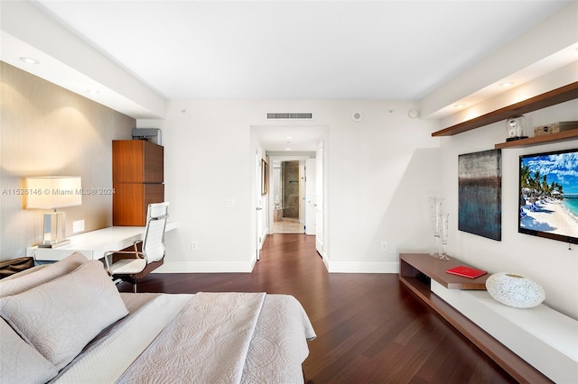
[[[100,261],[87,261],[58,279],[0,298],[0,315],[59,370],[127,314]]]

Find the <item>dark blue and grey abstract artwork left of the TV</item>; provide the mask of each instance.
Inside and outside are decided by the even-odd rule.
[[[502,240],[502,152],[458,158],[458,229]]]

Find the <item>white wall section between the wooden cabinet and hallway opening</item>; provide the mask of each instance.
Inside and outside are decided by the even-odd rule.
[[[169,103],[161,126],[165,199],[179,228],[167,236],[164,271],[251,270],[256,148],[245,113],[236,103]]]

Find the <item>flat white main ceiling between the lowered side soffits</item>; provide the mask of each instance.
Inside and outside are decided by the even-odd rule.
[[[54,1],[166,99],[418,100],[569,1]]]

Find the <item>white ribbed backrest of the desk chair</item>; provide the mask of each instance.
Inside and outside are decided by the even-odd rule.
[[[143,239],[143,254],[147,264],[164,257],[164,229],[168,218],[169,203],[149,204]]]

